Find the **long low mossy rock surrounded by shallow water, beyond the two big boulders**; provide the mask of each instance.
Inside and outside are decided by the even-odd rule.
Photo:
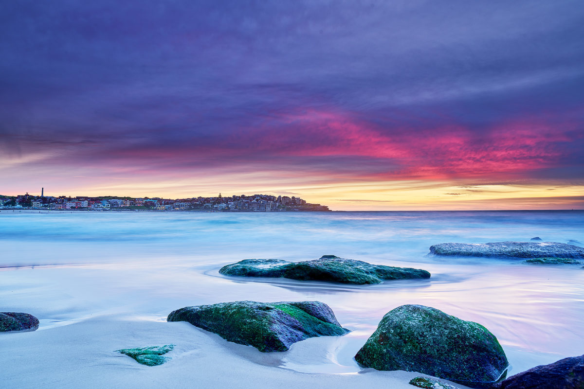
[[[357,285],[382,283],[391,279],[430,278],[430,273],[421,269],[371,265],[335,255],[323,255],[318,260],[302,262],[243,260],[225,265],[219,272],[224,275],[332,281]]]

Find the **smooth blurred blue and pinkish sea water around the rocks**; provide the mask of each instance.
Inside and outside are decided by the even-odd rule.
[[[425,255],[436,243],[535,236],[584,242],[584,212],[2,211],[0,311],[36,314],[41,331],[98,315],[165,320],[174,309],[203,303],[320,300],[353,332],[300,342],[279,365],[351,372],[358,369],[352,356],[385,313],[423,304],[485,325],[513,374],[584,352],[584,269]],[[432,278],[347,286],[218,274],[245,258],[324,254],[423,268]]]

